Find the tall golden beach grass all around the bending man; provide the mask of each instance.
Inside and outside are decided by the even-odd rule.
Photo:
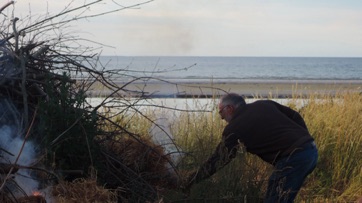
[[[216,104],[215,98],[215,107]],[[307,178],[297,201],[353,202],[362,197],[362,95],[348,92],[311,94],[308,98],[293,95],[288,106],[305,118],[319,149],[317,168]],[[129,124],[126,125],[129,130],[147,135],[149,122],[156,116],[154,111],[145,115],[147,119],[133,115],[122,122]],[[213,153],[225,125],[216,108],[211,112],[177,114],[170,128],[176,144],[185,153],[178,165],[180,174],[197,169]],[[166,202],[258,202],[264,196],[271,171],[269,164],[241,148],[230,164],[194,185],[188,195],[170,190],[162,196]]]

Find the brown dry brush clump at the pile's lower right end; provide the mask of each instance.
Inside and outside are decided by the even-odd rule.
[[[104,168],[99,174],[119,198],[154,199],[160,190],[177,186],[177,174],[169,167],[172,160],[161,145],[146,137],[120,137],[104,142]]]

